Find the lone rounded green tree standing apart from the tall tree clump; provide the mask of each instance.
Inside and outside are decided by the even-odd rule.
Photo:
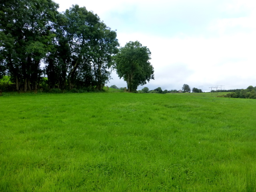
[[[154,79],[150,55],[150,50],[138,41],[128,42],[116,55],[116,72],[127,82],[129,92],[135,92],[139,85]]]

